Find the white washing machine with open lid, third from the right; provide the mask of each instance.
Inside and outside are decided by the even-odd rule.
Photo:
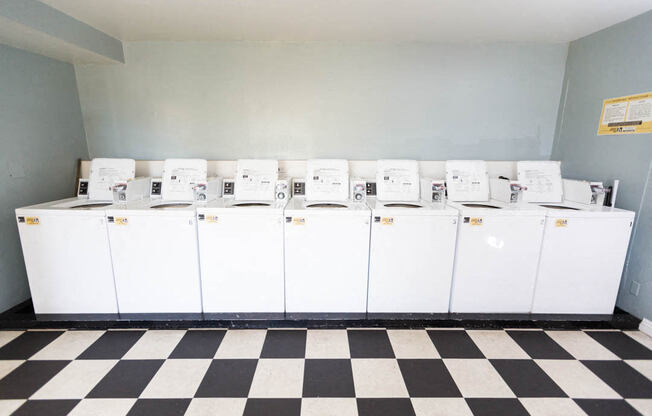
[[[379,160],[371,208],[369,313],[446,313],[457,210],[421,199],[415,160]],[[431,187],[423,194],[432,199]]]

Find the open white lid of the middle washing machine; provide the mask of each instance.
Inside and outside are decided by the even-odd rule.
[[[349,162],[343,159],[306,161],[306,200],[347,201]]]

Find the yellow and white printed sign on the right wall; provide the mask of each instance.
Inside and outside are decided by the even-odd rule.
[[[598,136],[652,133],[652,92],[604,100]]]

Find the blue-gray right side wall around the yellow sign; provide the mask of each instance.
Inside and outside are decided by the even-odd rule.
[[[620,179],[617,206],[637,211],[617,305],[652,319],[652,134],[598,136],[602,100],[652,91],[652,12],[570,44],[553,159],[565,177]],[[630,293],[632,281],[640,294]]]

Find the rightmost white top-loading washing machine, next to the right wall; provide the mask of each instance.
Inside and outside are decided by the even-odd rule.
[[[530,162],[519,165],[531,170]],[[546,227],[532,312],[612,314],[635,214],[603,206],[596,183],[564,180],[560,187],[561,175],[548,182],[559,189],[558,196],[548,200],[561,199],[561,189],[564,200],[538,203],[546,210]]]

